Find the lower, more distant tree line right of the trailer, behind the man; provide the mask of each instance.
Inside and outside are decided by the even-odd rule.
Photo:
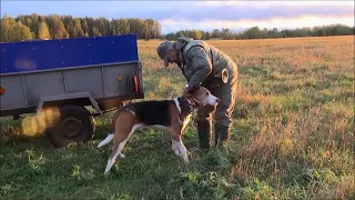
[[[320,26],[313,28],[297,28],[277,30],[277,28],[267,30],[252,27],[241,32],[231,31],[231,29],[214,29],[213,31],[202,30],[181,30],[171,32],[165,36],[168,40],[175,40],[184,36],[193,39],[210,40],[219,38],[223,40],[241,40],[241,39],[273,39],[273,38],[298,38],[298,37],[328,37],[328,36],[352,36],[355,34],[355,28],[344,24]]]

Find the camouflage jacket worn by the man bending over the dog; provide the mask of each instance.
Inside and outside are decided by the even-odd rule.
[[[222,83],[221,72],[226,69],[229,80],[236,77],[237,67],[233,60],[215,47],[201,40],[179,38],[174,42],[179,52],[181,69],[190,88],[197,84],[213,88]]]

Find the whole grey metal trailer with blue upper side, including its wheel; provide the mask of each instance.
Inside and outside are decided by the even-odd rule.
[[[144,98],[135,34],[4,42],[0,78],[0,117],[37,113],[28,126],[54,147],[89,141],[94,116]]]

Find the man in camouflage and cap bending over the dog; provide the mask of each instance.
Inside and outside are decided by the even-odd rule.
[[[227,54],[215,47],[201,40],[191,40],[184,37],[174,42],[162,42],[156,51],[165,67],[169,63],[179,66],[187,80],[187,84],[183,89],[184,92],[201,84],[221,100],[214,116],[214,144],[217,147],[227,141],[235,106],[237,66]],[[196,123],[200,149],[210,148],[214,109],[211,106],[197,109]]]

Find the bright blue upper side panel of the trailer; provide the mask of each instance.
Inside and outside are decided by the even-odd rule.
[[[4,42],[0,74],[139,60],[136,34]]]

